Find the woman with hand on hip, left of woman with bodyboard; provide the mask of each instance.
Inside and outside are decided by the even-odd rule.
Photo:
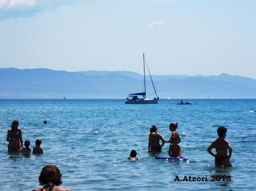
[[[150,152],[152,153],[159,153],[162,150],[162,147],[165,144],[165,139],[162,137],[160,133],[157,133],[157,127],[156,125],[152,125],[152,133],[149,137],[149,146],[150,146]],[[160,140],[162,144],[160,145]]]

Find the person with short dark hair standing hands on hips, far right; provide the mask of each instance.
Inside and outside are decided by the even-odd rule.
[[[207,149],[208,153],[215,157],[216,167],[232,167],[232,164],[229,161],[232,155],[232,147],[228,140],[225,139],[227,131],[227,128],[220,126],[217,129],[219,138],[211,143]],[[216,149],[216,154],[211,152],[213,148]]]

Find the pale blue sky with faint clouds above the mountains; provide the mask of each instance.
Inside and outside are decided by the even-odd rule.
[[[0,0],[0,68],[256,79],[256,1]]]

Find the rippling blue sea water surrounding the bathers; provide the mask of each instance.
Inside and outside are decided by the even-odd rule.
[[[32,190],[46,164],[62,172],[72,190],[248,190],[255,188],[255,99],[186,100],[198,105],[126,105],[124,100],[0,100],[0,190]],[[44,155],[7,154],[6,132],[19,120],[23,141],[42,139]],[[43,124],[47,119],[48,124]],[[179,123],[182,154],[188,163],[155,160],[147,153],[149,128],[169,139],[169,123]],[[206,148],[228,128],[232,169],[217,169]],[[98,133],[95,133],[95,132]],[[168,154],[165,144],[163,155]],[[130,150],[139,162],[129,162]],[[176,175],[208,176],[208,182],[174,182]],[[211,175],[230,175],[231,182],[210,182]]]

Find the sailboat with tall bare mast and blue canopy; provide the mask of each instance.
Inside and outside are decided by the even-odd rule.
[[[149,71],[149,67],[147,66],[147,71]],[[159,97],[157,97],[156,94],[156,90],[155,90],[155,86],[154,83],[152,81],[150,72],[149,72],[149,76],[152,82],[152,86],[154,88],[155,94],[156,94],[156,98],[146,98],[146,77],[145,77],[145,57],[144,57],[144,53],[143,53],[143,68],[144,68],[144,92],[141,93],[131,93],[129,94],[129,96],[126,98],[125,103],[126,104],[152,104],[152,103],[157,103],[159,100]]]

